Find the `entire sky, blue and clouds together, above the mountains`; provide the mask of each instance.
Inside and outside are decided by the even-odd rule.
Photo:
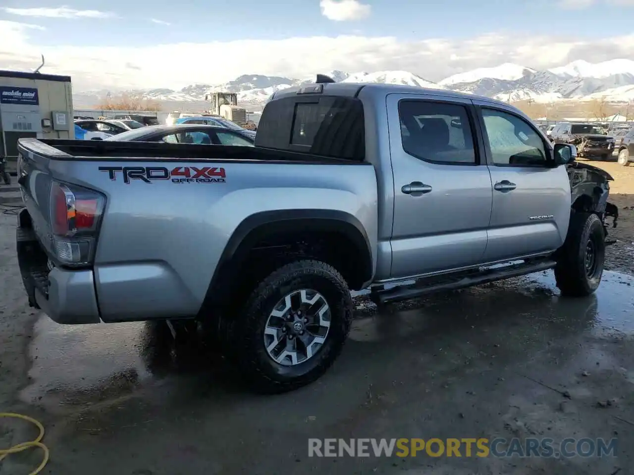
[[[634,0],[2,0],[0,68],[45,53],[49,72],[95,87],[332,69],[439,80],[505,62],[634,59],[634,34],[614,28],[632,13]],[[579,28],[597,17],[605,27]]]

